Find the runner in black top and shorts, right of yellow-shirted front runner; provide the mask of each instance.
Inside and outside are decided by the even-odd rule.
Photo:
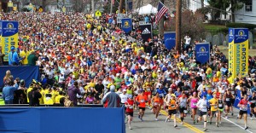
[[[233,105],[232,99],[235,99],[235,95],[231,93],[231,89],[224,93],[224,103],[225,103],[225,118],[228,119],[228,114],[230,113],[231,107]]]

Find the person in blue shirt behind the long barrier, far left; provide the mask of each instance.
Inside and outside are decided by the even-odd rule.
[[[5,81],[5,86],[3,87],[3,100],[5,104],[13,104],[15,90],[18,90],[19,85],[15,80],[15,86],[12,86],[11,80],[9,78]]]

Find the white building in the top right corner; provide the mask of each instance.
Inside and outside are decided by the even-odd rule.
[[[240,23],[256,24],[256,0],[247,0],[243,8],[236,11],[235,21]]]

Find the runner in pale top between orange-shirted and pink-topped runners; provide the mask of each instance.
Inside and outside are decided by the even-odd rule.
[[[181,124],[183,124],[183,119],[186,117],[186,114],[188,113],[187,108],[188,108],[188,98],[186,94],[183,92],[182,96],[178,98],[178,107],[179,107],[179,113],[180,113],[180,119],[181,119]]]

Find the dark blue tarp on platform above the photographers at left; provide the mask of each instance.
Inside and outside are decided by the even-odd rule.
[[[27,66],[27,67],[0,67],[0,86],[3,85],[3,77],[5,72],[10,70],[14,78],[24,79],[26,87],[32,82],[32,79],[39,79],[39,67]]]

